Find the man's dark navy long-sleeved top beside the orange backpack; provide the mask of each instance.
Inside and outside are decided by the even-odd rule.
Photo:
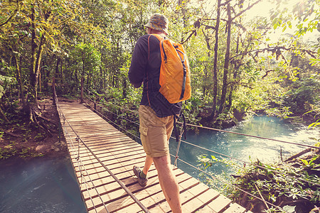
[[[129,80],[132,84],[144,83],[140,105],[151,107],[156,116],[161,118],[171,116],[173,113],[180,114],[181,102],[170,104],[159,92],[160,66],[161,52],[158,38],[153,35],[142,35],[134,47],[128,72]]]

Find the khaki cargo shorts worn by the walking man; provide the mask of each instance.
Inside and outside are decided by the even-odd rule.
[[[159,118],[149,106],[140,105],[140,138],[144,152],[151,158],[169,155],[169,138],[174,129],[174,116]]]

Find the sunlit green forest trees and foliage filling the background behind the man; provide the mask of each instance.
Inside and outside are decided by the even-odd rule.
[[[309,112],[304,116],[316,121],[319,1],[280,10],[285,3],[274,1],[270,18],[252,18],[260,1],[1,1],[1,120],[8,123],[8,106],[18,101],[36,123],[38,94],[50,93],[53,77],[58,96],[77,96],[84,78],[87,89],[112,96],[114,104],[137,104],[127,79],[131,54],[148,17],[161,12],[191,63],[189,122],[223,127],[252,111],[284,119]],[[271,40],[279,28],[297,30]],[[306,43],[308,33],[318,40]]]

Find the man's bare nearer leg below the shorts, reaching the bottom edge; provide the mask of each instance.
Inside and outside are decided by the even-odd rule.
[[[166,201],[169,203],[171,211],[173,213],[181,212],[179,187],[176,176],[171,168],[170,156],[166,155],[154,158],[154,165],[158,171],[161,189],[164,192],[164,197],[166,197]]]

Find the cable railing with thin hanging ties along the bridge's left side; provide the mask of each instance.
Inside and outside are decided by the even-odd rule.
[[[80,136],[78,136],[78,133],[76,133],[76,131],[75,131],[75,130],[73,129],[73,127],[70,125],[69,121],[68,121],[67,119],[65,119],[65,116],[64,116],[64,114],[62,113],[62,110],[60,109],[60,106],[59,106],[59,104],[58,104],[58,99],[55,99],[55,104],[56,104],[56,106],[57,106],[58,111],[60,111],[59,116],[62,115],[62,116],[63,116],[63,121],[67,121],[70,129],[72,129],[73,133],[75,133],[75,135],[77,136],[78,141],[81,141],[81,142],[82,142],[82,144],[87,148],[88,151],[90,151],[90,153],[96,158],[96,160],[102,165],[102,167],[105,168],[105,170],[107,170],[107,172],[110,173],[110,175],[112,176],[112,178],[114,178],[114,180],[122,187],[122,189],[123,189],[125,192],[127,192],[127,194],[128,194],[130,197],[132,197],[132,200],[134,200],[134,202],[136,202],[136,203],[139,205],[139,207],[142,208],[142,210],[143,210],[144,212],[149,212],[149,210],[148,210],[146,207],[144,207],[144,204],[142,204],[142,202],[140,202],[140,201],[137,199],[137,197],[135,197],[135,196],[132,194],[132,192],[111,172],[111,170],[110,170],[109,168],[107,168],[107,166],[106,166],[104,163],[102,163],[102,161],[97,157],[97,155],[95,155],[95,153],[93,153],[93,151],[85,144],[85,142],[82,141],[82,139],[80,138]],[[66,131],[66,128],[65,128],[65,131]],[[68,132],[68,131],[67,131],[67,132]],[[79,150],[79,145],[80,145],[80,143],[78,143],[78,151],[80,151],[80,150]],[[79,153],[78,153],[78,157],[77,157],[77,158],[78,158],[78,160],[80,159]],[[81,161],[81,163],[82,163],[82,161]],[[80,167],[78,167],[78,168],[80,169]],[[82,176],[83,176],[83,175],[82,175]],[[90,178],[90,175],[89,175],[88,173],[87,173],[87,176]],[[92,180],[91,180],[91,182],[92,182]],[[107,207],[105,206],[105,202],[103,202],[102,197],[100,196],[100,193],[97,191],[97,189],[96,189],[96,187],[95,187],[95,184],[94,184],[93,182],[92,182],[92,185],[93,185],[93,187],[95,188],[98,197],[100,197],[100,199],[101,199],[101,201],[102,201],[102,204],[104,205],[105,209],[107,210]],[[87,192],[88,192],[88,194],[90,195],[89,190],[87,190]],[[90,200],[92,201],[92,205],[93,205],[95,211],[97,212],[97,209],[95,208],[95,204],[93,203],[93,200],[92,200],[91,195],[90,195]],[[108,212],[108,210],[107,210],[107,212]]]

